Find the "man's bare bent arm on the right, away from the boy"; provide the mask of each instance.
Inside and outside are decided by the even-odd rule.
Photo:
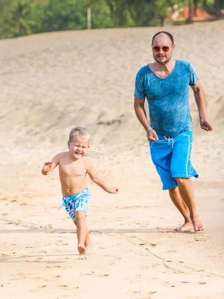
[[[207,117],[207,108],[206,108],[206,94],[205,90],[198,80],[195,86],[191,86],[194,91],[195,101],[198,106],[200,126],[205,131],[212,131],[213,127],[210,120]]]

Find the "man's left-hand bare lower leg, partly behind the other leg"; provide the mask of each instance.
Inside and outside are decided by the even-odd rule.
[[[193,224],[190,218],[190,211],[184,202],[183,198],[180,195],[179,188],[172,188],[169,189],[170,198],[172,199],[173,203],[179,210],[179,212],[184,217],[184,224],[178,228],[175,228],[175,231],[177,232],[184,232],[187,230],[191,230],[193,228]]]

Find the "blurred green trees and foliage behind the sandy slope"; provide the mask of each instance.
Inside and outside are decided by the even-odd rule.
[[[31,33],[92,28],[163,25],[174,4],[201,5],[221,14],[223,0],[0,0],[0,38]]]

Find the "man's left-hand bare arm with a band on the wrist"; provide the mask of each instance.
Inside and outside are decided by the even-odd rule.
[[[142,127],[145,129],[147,133],[147,138],[149,141],[154,142],[158,140],[158,136],[156,132],[150,128],[149,123],[147,121],[146,112],[145,112],[145,99],[137,99],[134,98],[134,111],[135,114],[141,123]]]

